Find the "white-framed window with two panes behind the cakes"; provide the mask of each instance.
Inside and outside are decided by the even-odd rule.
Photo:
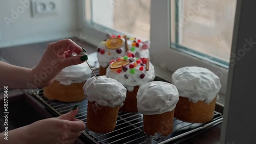
[[[236,0],[78,2],[87,42],[97,46],[107,32],[150,39],[157,76],[170,81],[180,67],[205,67],[221,78],[226,93]]]

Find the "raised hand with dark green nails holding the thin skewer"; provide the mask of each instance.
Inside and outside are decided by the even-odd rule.
[[[70,39],[50,43],[38,65],[32,68],[31,88],[44,87],[53,82],[60,71],[70,65],[83,63],[88,59],[86,52]],[[69,57],[76,53],[77,56]]]

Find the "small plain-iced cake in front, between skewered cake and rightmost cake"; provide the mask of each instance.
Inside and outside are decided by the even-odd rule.
[[[179,101],[179,92],[174,85],[160,81],[146,83],[139,88],[137,101],[146,134],[167,136],[172,133],[174,109]]]

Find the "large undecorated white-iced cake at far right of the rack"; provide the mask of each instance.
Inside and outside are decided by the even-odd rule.
[[[206,68],[191,66],[176,70],[172,79],[180,94],[174,116],[190,123],[211,121],[221,89],[219,77]]]

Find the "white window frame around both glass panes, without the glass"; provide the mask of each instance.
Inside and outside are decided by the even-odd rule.
[[[98,46],[106,33],[119,34],[117,31],[104,28],[96,23],[88,22],[86,20],[85,1],[88,0],[78,1],[78,16],[82,17],[78,18],[78,28],[80,37],[83,37],[84,41]],[[172,25],[170,25],[170,14],[169,0],[151,0],[151,48],[149,50],[151,62],[155,66],[156,76],[168,82],[172,82],[172,74],[180,67],[205,67],[220,77],[222,85],[220,93],[221,95],[225,95],[228,68],[203,60],[203,57],[195,57],[184,53],[173,47],[170,39],[171,34],[173,35],[173,31],[170,31],[172,27]],[[224,101],[220,103],[224,104]]]

